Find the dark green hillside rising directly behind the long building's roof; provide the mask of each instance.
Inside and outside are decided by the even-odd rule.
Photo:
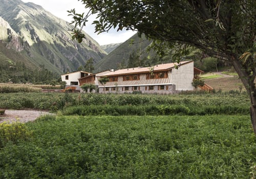
[[[132,44],[131,41],[133,41]],[[131,56],[138,55],[138,59],[145,59],[148,56],[145,50],[151,42],[152,41],[147,40],[144,35],[140,38],[135,34],[130,39],[120,44],[120,46],[110,52],[101,61],[97,62],[94,69],[96,72],[100,72],[109,69],[126,68],[130,65],[129,58]]]

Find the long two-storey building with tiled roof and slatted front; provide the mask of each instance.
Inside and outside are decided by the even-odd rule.
[[[178,69],[176,69],[178,67]],[[173,94],[193,91],[194,75],[203,71],[194,68],[194,61],[165,63],[147,67],[117,70],[96,76],[108,78],[105,84],[98,83],[99,93]]]

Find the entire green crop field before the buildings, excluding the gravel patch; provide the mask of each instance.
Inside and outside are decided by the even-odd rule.
[[[55,111],[0,124],[0,178],[255,178],[244,93],[0,94]]]

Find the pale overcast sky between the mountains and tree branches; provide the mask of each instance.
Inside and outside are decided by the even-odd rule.
[[[45,10],[51,12],[53,15],[62,18],[66,21],[71,21],[71,16],[68,16],[68,10],[76,9],[76,13],[82,13],[86,9],[84,5],[82,5],[81,1],[77,0],[22,0],[25,3],[32,2],[34,4],[42,6]],[[93,21],[94,19],[92,19]],[[92,22],[91,21],[91,22]],[[110,44],[110,43],[120,43],[124,42],[125,40],[129,39],[131,36],[135,34],[133,31],[119,31],[112,30],[109,33],[101,33],[97,35],[94,33],[94,26],[89,24],[86,26],[84,31],[88,33],[94,40],[96,40],[101,46],[103,44]]]

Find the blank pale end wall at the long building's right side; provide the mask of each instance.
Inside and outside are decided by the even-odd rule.
[[[181,65],[178,69],[173,69],[170,75],[170,81],[176,85],[177,91],[193,91],[192,85],[194,78],[194,62],[191,61]]]

